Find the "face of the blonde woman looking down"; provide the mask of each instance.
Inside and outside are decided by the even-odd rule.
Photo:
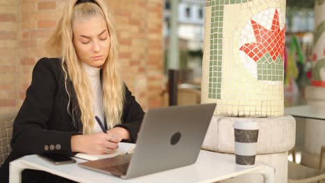
[[[72,29],[78,59],[91,67],[101,67],[110,50],[110,35],[103,17],[97,15],[77,20]]]

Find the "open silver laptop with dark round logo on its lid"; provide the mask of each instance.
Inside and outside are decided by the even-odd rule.
[[[78,166],[132,178],[194,164],[215,106],[213,103],[149,110],[144,115],[132,155],[84,162]]]

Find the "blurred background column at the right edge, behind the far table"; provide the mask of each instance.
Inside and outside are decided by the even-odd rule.
[[[315,32],[313,47],[312,85],[306,88],[309,105],[325,106],[325,1],[315,1]],[[318,168],[319,153],[325,146],[325,123],[322,120],[306,119],[305,147],[301,163]],[[323,164],[325,160],[323,161]]]

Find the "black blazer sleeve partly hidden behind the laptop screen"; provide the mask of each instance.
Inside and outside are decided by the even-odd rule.
[[[131,137],[131,142],[135,143],[138,138],[138,132],[142,123],[144,112],[142,107],[135,97],[131,94],[128,87],[125,86],[125,103],[122,114],[122,124],[116,125],[116,127],[122,127],[128,130]]]

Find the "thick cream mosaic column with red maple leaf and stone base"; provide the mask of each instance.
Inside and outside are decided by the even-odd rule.
[[[256,121],[256,159],[287,182],[295,121],[283,116],[285,0],[206,0],[204,31],[201,101],[217,107],[203,148],[233,154],[233,121]],[[260,182],[255,176],[235,182]]]

